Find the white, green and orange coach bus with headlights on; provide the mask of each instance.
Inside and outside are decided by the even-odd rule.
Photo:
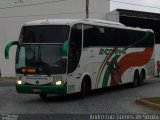
[[[18,93],[80,93],[131,83],[154,75],[154,32],[96,19],[48,19],[27,22],[17,45]]]

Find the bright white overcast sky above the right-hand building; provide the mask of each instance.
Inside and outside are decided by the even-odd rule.
[[[118,1],[125,2],[126,4],[119,3]],[[138,4],[142,6],[150,6],[150,7],[129,5],[127,3]],[[121,8],[121,9],[130,9],[130,10],[160,13],[160,0],[111,0],[110,5],[111,5],[110,11],[117,9],[117,8]]]

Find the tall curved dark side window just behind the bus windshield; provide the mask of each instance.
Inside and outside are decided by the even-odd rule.
[[[72,27],[69,41],[68,73],[72,73],[78,66],[82,48],[82,25]]]

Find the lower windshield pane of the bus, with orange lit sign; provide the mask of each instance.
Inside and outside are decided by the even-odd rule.
[[[61,44],[21,44],[17,49],[17,74],[65,74],[67,60]]]

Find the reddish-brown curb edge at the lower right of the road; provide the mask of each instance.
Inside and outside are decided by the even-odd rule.
[[[160,110],[160,104],[149,102],[148,100],[145,100],[143,98],[139,99],[139,100],[136,100],[135,102],[136,102],[136,104],[140,104],[140,105],[144,105],[144,106],[147,106],[147,107],[150,107],[150,108],[153,108],[153,109]]]

